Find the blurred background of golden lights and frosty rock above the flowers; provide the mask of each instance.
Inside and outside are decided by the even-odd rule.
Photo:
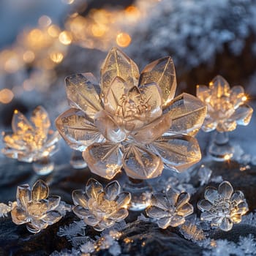
[[[256,1],[1,0],[0,129],[13,110],[67,109],[64,78],[99,68],[118,46],[140,70],[170,55],[178,89],[222,75],[256,96]]]

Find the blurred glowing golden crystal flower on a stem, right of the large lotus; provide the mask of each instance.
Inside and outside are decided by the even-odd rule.
[[[236,125],[247,125],[252,117],[252,108],[245,104],[246,95],[242,86],[230,89],[227,81],[217,75],[209,86],[197,86],[197,97],[207,105],[207,115],[202,129],[211,132],[230,132]]]

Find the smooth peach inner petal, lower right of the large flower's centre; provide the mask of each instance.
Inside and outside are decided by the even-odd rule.
[[[170,113],[166,113],[145,127],[133,132],[132,137],[138,143],[149,144],[166,132],[170,128],[171,122]]]

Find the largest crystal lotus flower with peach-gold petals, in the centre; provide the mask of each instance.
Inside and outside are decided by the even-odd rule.
[[[70,147],[83,151],[93,173],[113,178],[124,167],[132,178],[154,178],[165,167],[181,171],[200,160],[193,136],[206,106],[176,91],[173,60],[137,65],[113,48],[101,69],[100,86],[91,73],[66,79],[72,108],[56,119]]]

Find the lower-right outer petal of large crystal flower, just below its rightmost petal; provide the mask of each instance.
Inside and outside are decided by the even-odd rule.
[[[151,146],[167,167],[177,171],[186,170],[201,159],[197,140],[187,135],[163,136]]]

